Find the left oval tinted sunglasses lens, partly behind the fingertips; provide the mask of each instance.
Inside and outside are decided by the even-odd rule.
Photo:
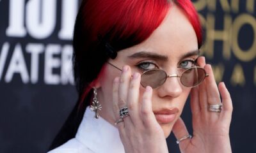
[[[150,69],[141,75],[141,85],[147,87],[149,85],[153,89],[164,84],[166,73],[162,69]]]

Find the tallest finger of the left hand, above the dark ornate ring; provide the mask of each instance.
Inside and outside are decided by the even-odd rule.
[[[131,69],[129,66],[124,66],[120,77],[120,84],[118,88],[119,100],[118,106],[122,108],[127,106],[127,92],[131,80]]]

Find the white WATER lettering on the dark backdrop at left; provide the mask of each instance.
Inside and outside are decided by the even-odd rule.
[[[9,63],[6,63],[8,53],[11,53],[10,44],[4,43],[0,54],[0,81],[9,83],[13,80],[13,75],[20,76],[23,84],[38,83],[38,74],[44,73],[44,83],[49,85],[74,84],[72,75],[72,45],[49,44],[46,47],[40,43],[29,43],[26,52],[23,52],[19,43],[15,45]],[[30,68],[26,60],[30,54]],[[44,65],[40,66],[40,59],[44,59]],[[41,60],[42,61],[42,60]],[[6,75],[3,68],[6,67]],[[42,68],[42,69],[40,69]],[[40,71],[41,70],[41,71]],[[44,70],[44,71],[42,71]],[[30,71],[30,76],[29,72]]]

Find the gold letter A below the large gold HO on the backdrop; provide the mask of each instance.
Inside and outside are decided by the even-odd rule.
[[[234,67],[230,83],[233,86],[237,86],[237,85],[240,85],[242,87],[244,86],[245,84],[244,71],[240,64],[236,64],[236,66]]]

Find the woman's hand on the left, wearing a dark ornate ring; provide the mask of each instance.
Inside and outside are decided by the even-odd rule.
[[[127,106],[129,110],[129,116],[116,125],[125,152],[168,152],[163,129],[152,112],[152,88],[141,89],[144,93],[140,98],[140,77],[140,73],[132,74],[131,68],[124,66],[121,77],[113,83],[115,119],[120,119],[120,108]]]

